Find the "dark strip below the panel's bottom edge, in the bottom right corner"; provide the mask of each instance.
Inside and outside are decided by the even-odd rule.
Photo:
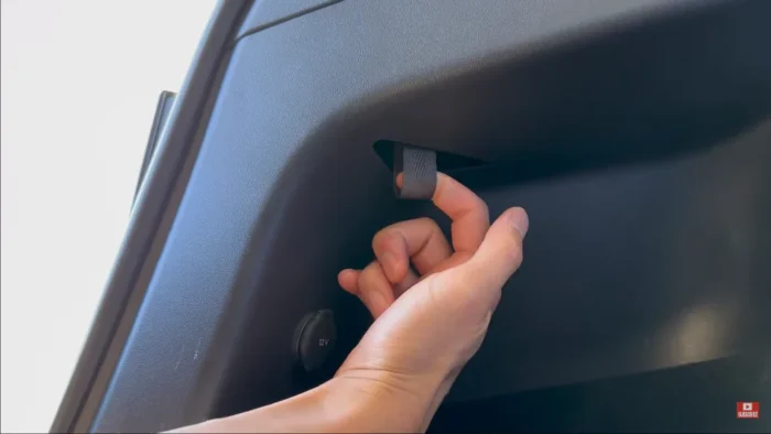
[[[428,432],[768,433],[768,417],[737,420],[730,398],[771,400],[771,364],[762,356],[448,404]]]

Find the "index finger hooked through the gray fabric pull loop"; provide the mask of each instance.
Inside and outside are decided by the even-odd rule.
[[[401,174],[397,177],[400,187],[402,178]],[[485,200],[441,172],[436,173],[436,188],[431,199],[453,221],[450,231],[455,251],[475,252],[490,228],[490,216]]]

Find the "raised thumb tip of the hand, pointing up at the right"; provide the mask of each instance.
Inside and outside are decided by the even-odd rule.
[[[522,239],[528,234],[528,214],[509,208],[490,226],[479,249],[464,264],[481,279],[486,290],[500,290],[522,263]]]

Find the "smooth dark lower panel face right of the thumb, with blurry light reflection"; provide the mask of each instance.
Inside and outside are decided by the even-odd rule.
[[[490,215],[519,205],[532,224],[449,399],[771,350],[769,169],[771,120],[672,160],[528,182],[510,167],[459,175]]]

